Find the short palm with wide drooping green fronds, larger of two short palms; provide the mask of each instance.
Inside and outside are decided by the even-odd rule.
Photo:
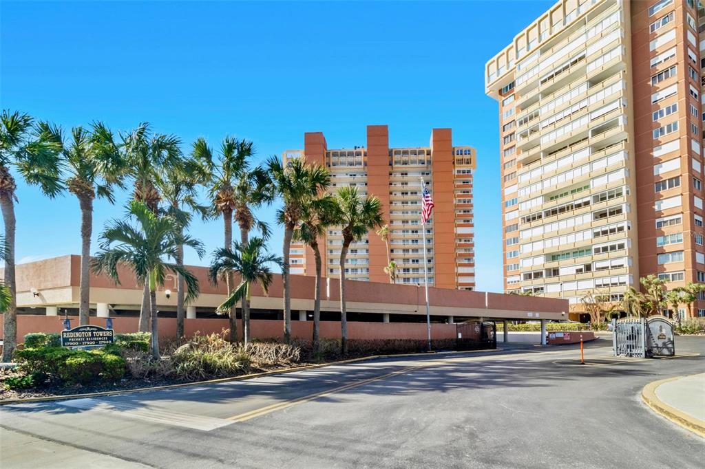
[[[165,259],[178,258],[180,245],[190,246],[203,254],[203,244],[197,239],[181,235],[179,223],[171,217],[159,217],[140,201],[130,201],[128,215],[137,224],[114,220],[101,236],[101,251],[92,259],[96,273],[105,273],[120,283],[118,267],[126,265],[138,279],[145,279],[149,288],[149,312],[152,322],[152,356],[159,358],[159,329],[157,326],[157,287],[164,284],[167,272],[181,275],[186,283],[186,300],[198,295],[198,279],[177,263]]]

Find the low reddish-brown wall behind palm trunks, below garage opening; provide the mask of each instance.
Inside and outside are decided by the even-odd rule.
[[[71,327],[78,326],[78,317],[73,316]],[[136,332],[139,318],[113,318],[116,333]],[[105,318],[90,318],[92,325],[105,327]],[[242,334],[241,322],[238,320],[238,335]],[[251,320],[252,337],[255,339],[272,339],[283,337],[283,321]],[[228,328],[228,318],[223,319],[186,319],[187,336],[212,334]],[[63,316],[18,315],[17,339],[23,342],[25,334],[30,332],[61,332]],[[311,321],[292,321],[292,337],[310,339],[313,334]],[[432,339],[453,339],[455,324],[431,324]],[[0,337],[4,337],[0,323]],[[159,337],[176,337],[176,318],[159,318]],[[338,321],[321,321],[321,337],[340,339],[341,323]],[[424,323],[362,323],[348,322],[348,339],[426,339],[427,330]]]

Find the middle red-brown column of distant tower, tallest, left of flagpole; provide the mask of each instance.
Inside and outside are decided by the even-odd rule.
[[[367,126],[367,194],[379,198],[383,223],[389,223],[389,130],[386,125]],[[376,230],[372,230],[369,232],[369,280],[389,282],[384,272],[386,265],[386,245]]]

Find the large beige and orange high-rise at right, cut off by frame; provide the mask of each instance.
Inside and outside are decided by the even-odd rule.
[[[589,292],[619,301],[640,276],[705,282],[703,14],[561,0],[486,64],[508,292],[569,299],[577,318]]]

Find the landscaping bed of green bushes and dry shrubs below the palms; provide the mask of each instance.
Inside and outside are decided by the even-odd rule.
[[[255,341],[231,344],[221,334],[195,335],[161,346],[161,359],[149,354],[149,334],[116,334],[102,349],[70,350],[59,346],[59,334],[27,334],[15,353],[18,367],[0,370],[0,399],[27,399],[69,394],[129,391],[184,384],[252,373],[302,368],[343,358],[425,351],[427,342],[414,339],[350,340],[349,353],[340,341],[324,339],[318,353],[312,344]],[[452,350],[455,339],[434,341],[434,349]]]

